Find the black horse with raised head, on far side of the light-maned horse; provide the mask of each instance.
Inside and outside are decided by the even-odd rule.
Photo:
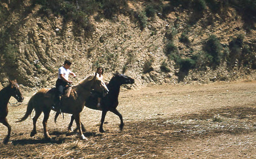
[[[134,83],[133,78],[119,74],[119,73],[114,74],[114,76],[111,78],[109,84],[107,85],[109,88],[109,93],[105,97],[103,97],[100,102],[100,105],[102,108],[101,123],[99,127],[100,132],[105,132],[103,129],[103,123],[105,120],[106,112],[108,111],[113,112],[115,115],[117,115],[120,118],[121,123],[119,125],[119,128],[120,130],[123,129],[123,125],[124,125],[123,117],[120,114],[120,112],[116,109],[116,107],[118,106],[118,96],[120,93],[120,86],[122,84],[133,84],[133,83]],[[99,110],[97,108],[97,97],[95,97],[93,94],[86,100],[85,105],[88,108]],[[71,121],[68,127],[69,130],[72,130],[73,121],[74,121],[74,117],[71,116]],[[83,125],[82,125],[82,129],[83,131],[85,131]]]

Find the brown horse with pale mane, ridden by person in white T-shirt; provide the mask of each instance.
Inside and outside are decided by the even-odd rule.
[[[62,96],[60,100],[61,111],[65,113],[70,113],[74,116],[81,139],[87,138],[84,137],[81,131],[80,112],[84,107],[86,99],[90,96],[92,89],[95,89],[99,92],[103,91],[101,81],[97,79],[96,74],[95,76],[89,76],[87,79],[84,79],[79,84],[72,86],[70,96]],[[32,110],[35,110],[35,116],[33,118],[33,130],[30,133],[31,137],[33,137],[36,134],[36,121],[41,115],[41,112],[44,112],[44,120],[42,121],[42,125],[44,126],[44,135],[46,139],[51,139],[47,130],[47,121],[49,119],[53,103],[54,91],[47,88],[40,89],[29,100],[27,112],[25,113],[24,117],[20,119],[18,122],[26,120],[31,114]]]

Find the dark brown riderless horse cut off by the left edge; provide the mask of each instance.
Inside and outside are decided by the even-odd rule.
[[[4,144],[7,144],[10,135],[11,135],[11,126],[7,122],[7,115],[8,115],[8,107],[7,104],[12,97],[14,97],[18,102],[23,101],[22,92],[20,92],[18,83],[16,80],[11,81],[9,80],[9,85],[0,90],[0,123],[3,123],[8,128],[8,134],[4,139]]]

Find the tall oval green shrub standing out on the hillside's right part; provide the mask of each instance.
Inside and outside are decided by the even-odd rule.
[[[206,57],[208,57],[209,66],[216,67],[221,63],[223,58],[223,47],[215,35],[209,36],[208,40],[203,46],[203,50],[206,52]]]

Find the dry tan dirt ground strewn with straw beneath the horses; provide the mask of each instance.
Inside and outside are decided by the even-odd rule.
[[[158,85],[122,91],[118,110],[108,112],[100,133],[101,111],[84,108],[82,122],[89,139],[67,131],[70,115],[48,121],[52,140],[45,140],[42,115],[37,134],[30,137],[32,117],[21,118],[22,105],[9,105],[12,126],[8,145],[0,144],[0,158],[256,158],[256,81],[207,85]],[[11,99],[12,101],[13,99]],[[14,101],[14,100],[13,100]],[[75,126],[75,125],[74,125]],[[0,140],[7,128],[0,124]]]

